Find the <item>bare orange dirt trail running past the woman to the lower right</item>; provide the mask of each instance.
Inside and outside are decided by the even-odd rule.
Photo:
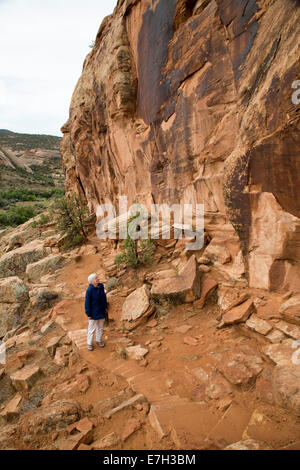
[[[218,330],[219,311],[214,299],[201,310],[191,304],[172,307],[167,315],[156,317],[157,324],[153,323],[153,327],[144,325],[132,333],[124,332],[120,324],[126,298],[124,288],[130,291],[142,285],[138,276],[125,275],[118,286],[118,295],[110,300],[112,321],[104,332],[106,347],[95,347],[89,352],[84,295],[90,273],[97,272],[101,280],[107,280],[103,261],[103,253],[83,256],[61,271],[53,288],[63,284],[65,297],[73,302],[57,321],[70,332],[84,361],[122,377],[136,393],[146,396],[151,404],[149,421],[157,443],[169,436],[173,448],[209,448],[209,445],[224,448],[249,437],[279,449],[299,441],[299,420],[265,400],[267,382],[261,380],[260,387],[255,385],[255,380],[236,385],[220,372],[216,358],[223,361],[236,348],[246,351],[246,355],[247,351],[257,354],[261,345],[255,337],[241,335],[237,327]],[[186,334],[176,331],[182,326],[187,327]],[[186,344],[186,337],[196,338],[197,344]],[[149,349],[145,363],[124,360],[117,352],[132,343]],[[262,369],[268,371],[271,367],[263,357]],[[94,402],[99,401],[99,394],[94,398]],[[111,424],[111,431],[125,424],[122,416]],[[142,433],[138,432],[130,444],[137,449],[143,448],[143,442]],[[297,447],[299,443],[294,445]]]

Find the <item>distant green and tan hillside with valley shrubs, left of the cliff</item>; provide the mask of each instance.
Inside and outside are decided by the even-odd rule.
[[[64,194],[60,141],[0,130],[0,230],[24,222]]]

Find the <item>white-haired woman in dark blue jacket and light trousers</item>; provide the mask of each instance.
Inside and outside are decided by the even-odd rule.
[[[88,350],[93,351],[93,338],[96,331],[96,343],[104,348],[102,342],[103,326],[107,317],[107,299],[104,285],[100,283],[97,274],[91,274],[88,278],[89,287],[85,296],[85,313],[89,318]]]

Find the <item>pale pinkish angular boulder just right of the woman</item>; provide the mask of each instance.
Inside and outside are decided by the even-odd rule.
[[[142,317],[150,307],[149,289],[146,285],[135,290],[125,300],[122,308],[122,321],[135,321]]]

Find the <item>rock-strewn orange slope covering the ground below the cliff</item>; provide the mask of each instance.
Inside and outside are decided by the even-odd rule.
[[[228,280],[211,243],[158,240],[132,271],[92,229],[68,253],[51,224],[0,237],[0,449],[300,449],[298,294]],[[93,271],[110,324],[89,352]]]

